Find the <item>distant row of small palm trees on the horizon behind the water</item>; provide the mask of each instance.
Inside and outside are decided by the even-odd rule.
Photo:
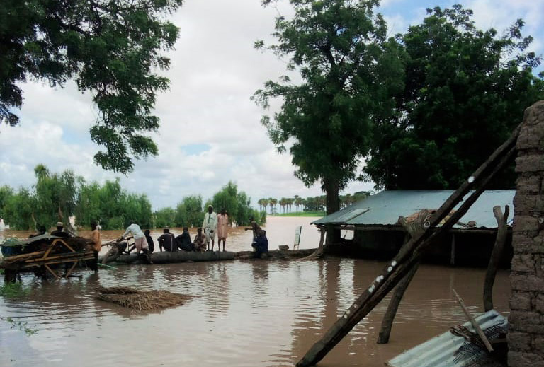
[[[360,191],[355,194],[340,195],[340,208],[344,208],[348,205],[355,204],[356,202],[370,196],[368,191]],[[295,197],[282,197],[281,199],[274,199],[273,197],[261,198],[257,201],[259,209],[266,211],[266,208],[270,207],[270,213],[277,213],[278,204],[282,213],[293,213],[300,211],[326,211],[327,200],[325,195],[317,197],[303,198],[298,195]]]

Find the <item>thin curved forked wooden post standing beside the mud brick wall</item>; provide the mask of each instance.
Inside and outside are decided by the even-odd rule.
[[[484,281],[484,309],[485,312],[493,309],[493,284],[495,282],[495,275],[497,275],[497,269],[499,268],[499,262],[504,250],[504,244],[506,243],[506,235],[508,234],[508,215],[510,214],[510,207],[506,205],[504,208],[504,215],[500,206],[493,207],[493,214],[497,219],[497,238],[495,239],[495,245],[491,257],[489,258],[489,264],[487,264],[487,272],[485,273]]]

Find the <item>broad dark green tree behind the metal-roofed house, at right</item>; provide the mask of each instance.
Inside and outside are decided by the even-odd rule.
[[[378,189],[456,189],[544,98],[523,21],[498,35],[477,29],[459,5],[427,12],[397,36],[408,55],[405,88],[395,118],[376,124],[364,168]],[[490,188],[512,188],[514,180],[512,168]]]

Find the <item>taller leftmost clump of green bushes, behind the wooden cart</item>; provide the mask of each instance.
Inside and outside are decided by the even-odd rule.
[[[126,192],[118,179],[103,186],[96,182],[87,185],[72,171],[50,173],[44,165],[38,165],[35,173],[34,190],[21,187],[13,192],[0,187],[0,213],[14,229],[32,230],[38,225],[51,228],[61,216],[64,222],[76,216],[78,226],[90,226],[95,220],[103,229],[123,229],[131,219],[140,226],[152,226],[147,195]]]

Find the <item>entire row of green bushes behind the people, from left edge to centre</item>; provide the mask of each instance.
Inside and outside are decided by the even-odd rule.
[[[98,221],[103,229],[122,229],[131,221],[142,228],[164,226],[200,226],[204,209],[212,204],[215,211],[225,209],[232,223],[245,226],[254,217],[258,223],[266,221],[266,213],[251,208],[251,198],[239,192],[237,185],[229,182],[212,199],[205,202],[200,195],[184,197],[175,208],[153,212],[146,194],[127,192],[119,179],[86,182],[71,170],[51,173],[45,165],[34,169],[36,182],[30,187],[13,190],[0,187],[0,218],[18,230],[33,230],[45,226],[52,228],[57,221],[69,226],[69,218],[75,217],[75,225],[89,227]]]

